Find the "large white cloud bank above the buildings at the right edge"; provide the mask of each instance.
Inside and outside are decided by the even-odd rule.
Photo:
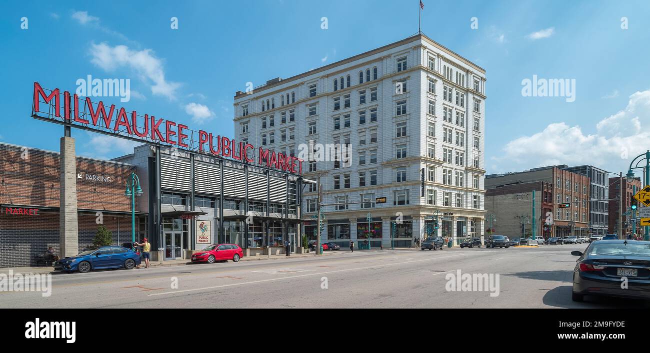
[[[512,140],[493,158],[496,173],[545,165],[590,164],[607,171],[627,171],[630,159],[645,152],[650,139],[650,90],[630,95],[625,109],[596,125],[595,134],[579,126],[552,123],[531,136]]]

